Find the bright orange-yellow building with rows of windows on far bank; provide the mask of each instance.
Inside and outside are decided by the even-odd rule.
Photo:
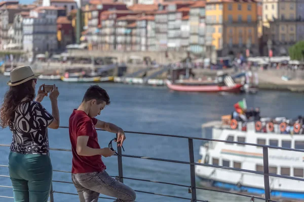
[[[245,54],[247,45],[258,55],[257,2],[206,1],[206,43],[219,56]]]

